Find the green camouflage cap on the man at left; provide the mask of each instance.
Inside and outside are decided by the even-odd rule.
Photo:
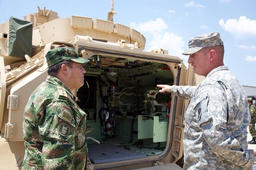
[[[72,47],[56,47],[55,49],[49,50],[46,54],[46,60],[48,68],[67,60],[81,64],[89,62],[89,60],[79,57]]]

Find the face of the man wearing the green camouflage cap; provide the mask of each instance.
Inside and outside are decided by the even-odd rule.
[[[73,62],[72,68],[69,68],[69,83],[71,89],[78,89],[84,85],[84,73],[86,70],[80,63]]]

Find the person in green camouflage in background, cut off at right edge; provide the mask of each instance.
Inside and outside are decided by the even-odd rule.
[[[249,131],[251,133],[252,136],[252,140],[249,141],[249,144],[256,144],[256,130],[255,130],[255,123],[256,123],[256,108],[255,105],[252,104],[252,98],[249,97],[247,98],[248,100],[248,104],[249,104],[249,110],[251,111],[251,122],[249,124]]]

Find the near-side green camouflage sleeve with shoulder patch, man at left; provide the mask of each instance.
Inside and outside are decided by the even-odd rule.
[[[75,121],[65,102],[53,102],[45,109],[39,132],[43,137],[42,164],[45,169],[72,169]]]

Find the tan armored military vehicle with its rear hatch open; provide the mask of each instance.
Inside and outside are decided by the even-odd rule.
[[[181,169],[188,101],[160,94],[157,84],[195,85],[182,59],[165,49],[146,52],[137,30],[108,20],[46,8],[0,25],[1,169],[21,169],[23,112],[47,76],[45,54],[71,46],[84,65],[84,86],[73,91],[87,113],[90,169]]]

